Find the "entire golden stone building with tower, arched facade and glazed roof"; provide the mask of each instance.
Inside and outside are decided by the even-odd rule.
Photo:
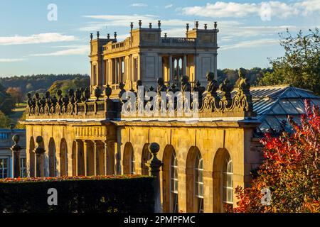
[[[159,28],[132,27],[130,37],[120,43],[116,37],[100,39],[98,33],[93,40],[91,35],[91,89],[71,90],[65,96],[60,91],[28,96],[23,122],[28,175],[148,175],[148,145],[159,143],[163,211],[222,212],[225,205],[235,206],[233,189],[249,186],[250,172],[261,162],[256,135],[265,129],[258,128],[260,123],[269,122],[267,114],[276,113],[273,106],[287,104],[279,103],[280,98],[299,103],[302,98],[297,93],[295,98],[289,93],[280,96],[291,87],[250,88],[243,70],[237,87],[228,79],[219,85],[213,73],[216,26],[209,30],[197,25],[191,31],[187,26],[187,38],[163,38],[160,26],[159,22]],[[174,72],[181,77],[173,69],[179,57],[186,77],[174,79]],[[149,101],[139,99],[137,85],[158,95]],[[122,99],[128,90],[137,97],[133,106],[138,110],[131,115],[124,114],[131,99]],[[170,115],[175,101],[160,105],[161,92],[169,96],[177,90],[182,106],[196,118],[178,108]],[[299,91],[319,101],[311,92]],[[188,92],[198,92],[193,97],[198,108],[186,101]],[[139,106],[144,107],[142,112]],[[292,106],[296,107],[301,106]],[[36,147],[44,148],[44,153],[36,154]]]

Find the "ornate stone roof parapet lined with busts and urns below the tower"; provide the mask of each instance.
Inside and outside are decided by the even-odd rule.
[[[77,89],[75,92],[71,89],[65,96],[62,96],[62,92],[59,90],[58,97],[50,96],[49,92],[46,92],[42,98],[39,94],[35,94],[33,98],[31,98],[31,94],[28,94],[27,118],[118,120],[120,118],[187,118],[194,117],[194,114],[198,118],[250,118],[256,116],[256,113],[253,111],[250,83],[245,78],[244,72],[242,69],[239,70],[238,87],[234,91],[233,85],[228,79],[219,85],[214,79],[213,72],[210,72],[207,74],[207,89],[202,87],[200,82],[196,82],[192,87],[188,82],[188,77],[184,76],[181,79],[181,89],[178,89],[175,84],[166,87],[164,79],[159,78],[156,91],[152,87],[148,91],[141,89],[142,82],[138,81],[137,88],[140,87],[140,89],[126,93],[124,84],[121,83],[119,85],[119,99],[110,99],[112,88],[109,85],[105,88],[107,98],[103,100],[100,100],[102,91],[99,87],[95,88],[95,100],[90,100],[88,88]],[[218,89],[220,89],[219,94]],[[197,94],[195,97],[198,100],[193,96],[191,99],[186,98],[186,94],[195,94],[195,92]],[[151,97],[149,101],[141,99],[141,97],[148,97],[149,94],[156,95]],[[178,96],[172,99],[171,94],[178,94]],[[163,95],[166,99],[165,102]],[[133,102],[130,100],[131,98],[125,99],[129,96],[135,98]],[[182,101],[176,101],[177,97],[181,97]],[[186,114],[183,111],[186,107],[191,111],[190,113]]]

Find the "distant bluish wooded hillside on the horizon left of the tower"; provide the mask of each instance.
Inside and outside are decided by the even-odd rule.
[[[4,87],[20,87],[23,93],[46,90],[55,81],[89,78],[87,74],[36,74],[27,76],[0,77],[0,84]]]

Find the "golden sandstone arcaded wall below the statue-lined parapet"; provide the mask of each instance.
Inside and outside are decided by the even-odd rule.
[[[115,125],[117,124],[117,126]],[[87,152],[95,149],[95,144],[107,141],[106,150],[108,157],[97,155],[100,165],[114,163],[115,172],[124,174],[129,165],[126,153],[133,150],[135,172],[145,174],[144,162],[149,157],[146,145],[159,143],[159,160],[164,162],[161,171],[161,203],[164,211],[170,211],[169,204],[169,181],[168,173],[169,153],[176,153],[178,158],[178,209],[187,212],[196,212],[195,189],[194,189],[194,160],[200,153],[203,158],[203,204],[204,212],[222,211],[222,167],[225,155],[229,154],[233,162],[233,188],[245,186],[250,183],[250,170],[260,162],[260,153],[257,152],[255,143],[252,143],[252,128],[246,123],[241,125],[237,122],[209,122],[209,123],[179,123],[179,122],[114,122],[110,123],[57,123],[50,125],[44,123],[28,123],[26,136],[31,138],[27,141],[28,166],[32,168],[34,157],[34,142],[38,135],[43,137],[43,146],[46,149],[46,169],[48,169],[49,141],[54,140],[55,156],[57,160],[58,175],[63,170],[60,150],[63,144],[67,146],[68,175],[75,175],[75,169],[79,169],[80,162],[77,152]],[[79,131],[81,133],[79,133]],[[81,135],[80,135],[81,134]],[[65,140],[65,142],[64,142]],[[77,148],[75,141],[94,141],[92,146]],[[112,145],[110,145],[112,143]],[[82,151],[81,151],[82,150]],[[103,148],[102,148],[103,150]],[[101,151],[101,150],[100,150]],[[99,153],[100,151],[97,151]],[[113,157],[112,157],[113,156]],[[101,162],[98,159],[107,158]],[[114,159],[114,162],[110,162]],[[77,161],[75,161],[77,160]],[[34,161],[36,162],[36,161]],[[90,164],[91,163],[91,164]],[[94,164],[93,164],[94,163]],[[96,162],[88,162],[87,165],[96,165]],[[78,167],[78,168],[77,168]],[[89,167],[88,167],[89,168]],[[92,167],[90,167],[92,168]],[[112,169],[112,167],[109,167]],[[28,170],[32,175],[32,170]],[[47,170],[48,175],[49,170]],[[110,172],[110,171],[109,171]],[[80,170],[79,170],[80,173]],[[96,174],[99,173],[97,170]],[[102,172],[103,173],[103,172]],[[87,175],[92,175],[87,174]],[[234,206],[236,198],[234,197]]]

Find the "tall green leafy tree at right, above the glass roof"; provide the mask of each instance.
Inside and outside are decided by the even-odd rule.
[[[320,94],[320,36],[319,29],[302,31],[292,36],[279,34],[280,45],[284,48],[284,57],[270,59],[274,72],[265,73],[259,80],[260,85],[292,84],[294,87],[309,89]]]

